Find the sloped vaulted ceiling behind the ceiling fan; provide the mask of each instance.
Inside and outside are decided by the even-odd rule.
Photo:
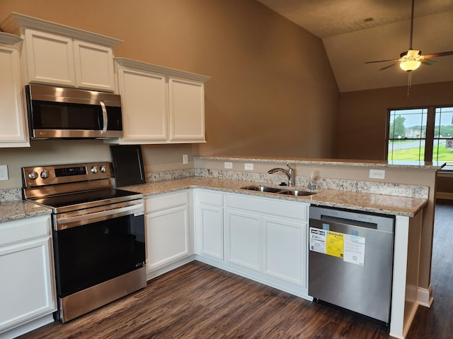
[[[408,84],[398,65],[409,49],[411,0],[258,0],[323,40],[340,92]],[[415,0],[413,49],[453,51],[453,0]],[[412,84],[453,81],[453,55],[413,71]],[[304,62],[303,60],[301,62]]]

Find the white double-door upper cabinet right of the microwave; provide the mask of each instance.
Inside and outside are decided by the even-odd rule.
[[[205,81],[200,76],[115,58],[123,137],[117,143],[205,142]]]

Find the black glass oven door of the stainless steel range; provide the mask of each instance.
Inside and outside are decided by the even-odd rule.
[[[140,201],[125,208],[105,210],[103,206],[95,213],[55,216],[59,298],[144,267],[144,207]]]

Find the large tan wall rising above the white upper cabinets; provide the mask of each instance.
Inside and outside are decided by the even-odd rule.
[[[123,40],[115,57],[211,76],[198,155],[332,157],[338,88],[322,41],[255,0],[2,0]],[[323,131],[323,133],[319,133]]]

